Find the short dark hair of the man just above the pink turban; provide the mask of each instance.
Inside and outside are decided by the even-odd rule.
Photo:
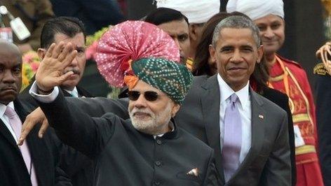
[[[156,10],[149,13],[144,19],[145,22],[155,25],[180,20],[185,20],[189,24],[189,20],[185,15],[171,8],[156,8]]]

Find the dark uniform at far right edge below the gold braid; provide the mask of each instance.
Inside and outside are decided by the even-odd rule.
[[[331,185],[331,76],[316,74],[316,121],[320,166],[325,185]]]

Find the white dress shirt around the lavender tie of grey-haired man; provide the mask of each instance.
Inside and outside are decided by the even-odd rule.
[[[250,92],[249,92],[249,82],[241,90],[234,92],[234,90],[225,83],[219,74],[217,74],[217,81],[219,84],[220,92],[220,104],[219,104],[219,134],[221,139],[221,149],[224,141],[224,115],[225,109],[229,105],[231,94],[236,94],[239,98],[239,103],[237,104],[239,113],[241,115],[242,123],[242,136],[241,136],[241,154],[239,156],[239,162],[243,162],[251,146],[251,117],[252,117],[252,108],[250,107]]]

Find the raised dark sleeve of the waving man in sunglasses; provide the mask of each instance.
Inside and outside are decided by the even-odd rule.
[[[51,103],[38,102],[61,141],[90,158],[104,148],[114,133],[115,123],[121,122],[115,115],[90,117],[68,103],[62,92]]]

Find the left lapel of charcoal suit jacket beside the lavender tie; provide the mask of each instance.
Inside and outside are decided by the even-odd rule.
[[[217,75],[208,78],[201,85],[203,94],[201,94],[201,106],[203,111],[203,122],[205,124],[205,134],[208,145],[214,149],[216,167],[223,177],[222,155],[219,137],[219,85]],[[222,178],[224,180],[224,178]]]

